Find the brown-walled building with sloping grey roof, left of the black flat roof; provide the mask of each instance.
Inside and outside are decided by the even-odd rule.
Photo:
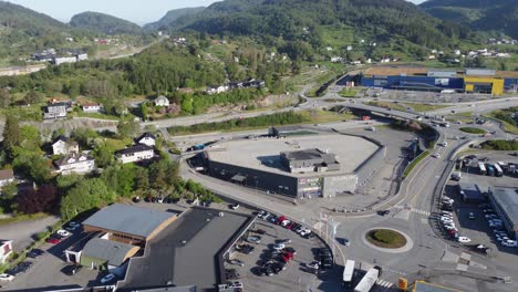
[[[176,219],[176,213],[123,204],[111,205],[83,222],[85,231],[103,231],[125,243],[145,243]]]

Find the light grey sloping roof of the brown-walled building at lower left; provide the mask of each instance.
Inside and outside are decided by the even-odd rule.
[[[148,237],[159,225],[176,216],[131,205],[114,204],[86,219],[83,225]]]

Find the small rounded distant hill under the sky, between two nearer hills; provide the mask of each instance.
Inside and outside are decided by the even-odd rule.
[[[133,22],[108,14],[90,11],[72,17],[70,25],[104,34],[142,33],[142,28]]]

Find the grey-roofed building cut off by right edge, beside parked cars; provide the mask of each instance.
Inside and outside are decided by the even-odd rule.
[[[518,188],[494,187],[489,200],[509,234],[518,239]]]

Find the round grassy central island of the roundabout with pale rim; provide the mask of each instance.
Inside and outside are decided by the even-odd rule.
[[[407,234],[392,228],[372,228],[362,236],[367,247],[388,253],[410,251],[414,241]]]

